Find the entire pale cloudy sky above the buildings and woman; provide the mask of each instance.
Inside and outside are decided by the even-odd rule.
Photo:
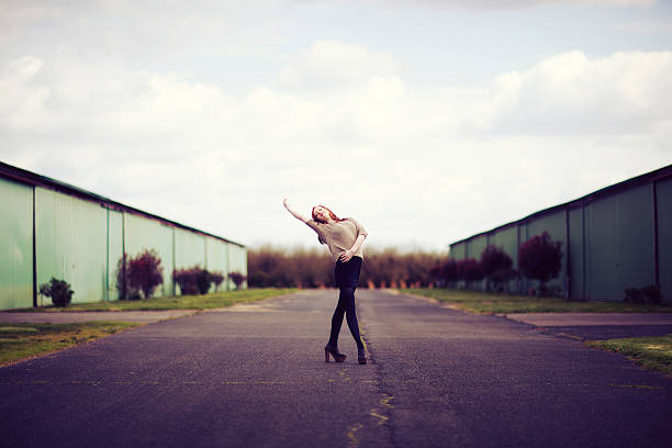
[[[250,246],[446,250],[672,164],[672,2],[0,0],[0,160]]]

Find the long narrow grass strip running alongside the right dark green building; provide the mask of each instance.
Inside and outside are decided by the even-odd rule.
[[[625,302],[568,302],[557,298],[495,294],[448,289],[400,289],[407,294],[423,295],[446,302],[470,313],[671,313],[669,305],[641,305]]]

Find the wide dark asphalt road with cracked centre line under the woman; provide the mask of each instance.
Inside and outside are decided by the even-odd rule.
[[[7,447],[669,447],[672,379],[528,324],[358,291],[159,322],[0,369]]]

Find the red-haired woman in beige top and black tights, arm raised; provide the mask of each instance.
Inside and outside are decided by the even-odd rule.
[[[336,262],[334,276],[336,287],[340,290],[338,304],[332,317],[332,333],[329,341],[324,347],[324,360],[329,361],[329,355],[336,362],[343,362],[346,356],[338,351],[338,333],[343,325],[345,314],[350,333],[357,344],[357,359],[359,363],[367,363],[365,346],[359,337],[359,324],[355,311],[355,290],[359,281],[361,270],[362,250],[361,245],[367,237],[367,231],[351,217],[340,219],[324,205],[315,205],[312,212],[312,220],[290,209],[287,199],[282,204],[296,220],[303,221],[317,233],[321,244],[326,244],[332,253],[332,258]]]

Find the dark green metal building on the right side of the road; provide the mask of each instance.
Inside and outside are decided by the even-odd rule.
[[[656,284],[672,303],[672,165],[452,243],[450,256],[480,259],[495,245],[517,268],[520,244],[544,231],[562,242],[562,270],[548,284],[564,298],[621,301],[626,288]],[[522,279],[508,289],[536,287]]]

